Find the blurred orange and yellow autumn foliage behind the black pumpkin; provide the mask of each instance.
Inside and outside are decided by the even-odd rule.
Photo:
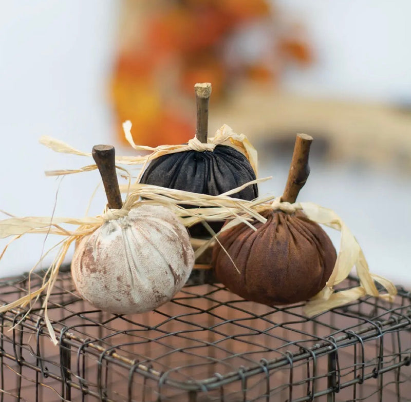
[[[274,31],[267,50],[274,53],[273,57],[245,60],[241,53],[235,53],[241,52],[240,46],[227,60],[229,38],[247,29],[248,24],[267,24],[268,17],[277,15],[268,0],[153,0],[150,5],[136,0],[133,10],[125,10],[124,15],[132,15],[139,4],[142,15],[138,23],[128,18],[130,29],[137,30],[130,37],[139,39],[123,46],[111,82],[121,140],[124,120],[133,122],[138,144],[179,144],[193,137],[195,116],[188,119],[185,111],[170,100],[167,90],[183,105],[184,97],[194,97],[196,82],[211,82],[213,101],[218,102],[229,96],[229,89],[239,78],[276,83],[286,62],[307,65],[312,60],[305,41],[293,35],[276,37]],[[131,6],[125,3],[125,7]],[[273,24],[275,21],[272,19]],[[275,66],[269,62],[273,59]]]

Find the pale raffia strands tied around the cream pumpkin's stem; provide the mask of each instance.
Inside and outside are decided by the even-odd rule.
[[[254,180],[255,183],[260,183],[266,179]],[[253,184],[249,183],[247,185]],[[241,188],[244,186],[241,186]],[[241,188],[233,190],[233,192],[240,191]],[[82,218],[71,218],[71,217],[10,217],[0,221],[0,238],[6,238],[8,236],[15,236],[10,243],[14,242],[18,238],[29,233],[42,233],[42,234],[57,234],[64,236],[58,245],[61,246],[57,256],[54,258],[51,266],[45,273],[42,286],[35,291],[28,291],[28,294],[13,301],[6,306],[0,307],[0,313],[13,309],[15,307],[26,307],[31,305],[33,300],[36,300],[39,295],[46,292],[46,297],[44,300],[44,316],[47,328],[49,330],[51,339],[54,344],[57,344],[57,338],[55,337],[54,331],[50,319],[47,314],[47,301],[51,294],[55,280],[58,277],[59,268],[67,254],[70,245],[76,240],[80,239],[82,236],[87,235],[100,226],[102,226],[107,220],[116,219],[122,216],[126,216],[128,212],[139,205],[143,204],[155,204],[163,205],[170,208],[182,221],[185,226],[191,226],[195,223],[201,222],[204,219],[229,219],[233,216],[238,216],[239,222],[245,222],[248,216],[255,216],[255,212],[252,208],[255,208],[257,202],[245,202],[244,205],[242,200],[231,198],[228,195],[221,195],[213,197],[206,194],[190,193],[186,191],[167,189],[158,186],[136,184],[128,188],[129,193],[124,201],[123,207],[119,210],[106,209],[102,215],[94,217],[82,217]],[[226,193],[230,194],[232,191]],[[144,197],[146,199],[141,199]],[[267,199],[259,200],[259,203],[263,203]],[[196,205],[195,208],[184,209],[178,204],[185,205]],[[249,204],[249,205],[248,205]],[[198,208],[197,206],[205,206],[212,208]],[[244,211],[250,210],[250,214]],[[244,217],[243,217],[244,216]],[[258,216],[258,215],[257,215]],[[265,222],[265,218],[260,216],[261,222]],[[63,228],[61,225],[74,225],[76,228]],[[3,257],[8,246],[6,245],[3,252],[0,254],[0,259]],[[51,250],[48,250],[45,255],[47,255]],[[42,257],[42,259],[44,256]],[[35,264],[31,272],[38,267],[39,263]],[[30,283],[30,277],[29,277]],[[30,287],[30,285],[29,285]],[[28,313],[28,312],[27,312]]]

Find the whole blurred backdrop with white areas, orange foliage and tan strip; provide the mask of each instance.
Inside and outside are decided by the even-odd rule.
[[[371,271],[411,286],[409,1],[0,5],[1,210],[84,215],[98,173],[45,177],[90,160],[54,153],[39,137],[130,154],[120,130],[130,119],[136,143],[182,143],[194,135],[193,85],[211,82],[210,135],[226,123],[251,139],[259,176],[273,176],[260,194],[282,193],[295,134],[311,134],[311,175],[299,200],[337,212]],[[104,205],[99,188],[89,213]],[[0,275],[29,270],[55,242],[19,240]]]

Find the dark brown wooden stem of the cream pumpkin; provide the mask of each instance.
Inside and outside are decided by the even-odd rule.
[[[103,180],[108,208],[121,209],[123,202],[116,174],[116,150],[112,145],[95,145],[91,155],[99,168],[101,179]]]

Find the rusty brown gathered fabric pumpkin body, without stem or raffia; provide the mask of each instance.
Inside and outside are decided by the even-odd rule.
[[[233,293],[269,306],[304,301],[324,288],[337,253],[324,230],[297,211],[267,210],[267,222],[255,220],[253,231],[239,224],[218,239],[213,267],[217,279]]]

